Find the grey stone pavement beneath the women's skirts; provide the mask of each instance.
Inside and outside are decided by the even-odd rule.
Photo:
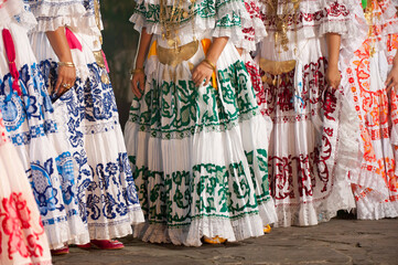
[[[120,251],[84,251],[54,257],[63,264],[277,265],[277,264],[397,264],[398,219],[359,221],[333,219],[310,227],[279,227],[271,234],[223,245],[201,247],[149,244],[121,240]]]

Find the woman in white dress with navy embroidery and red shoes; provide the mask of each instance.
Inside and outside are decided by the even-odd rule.
[[[111,239],[131,234],[131,224],[143,215],[101,51],[99,1],[25,2],[37,19],[31,44],[52,93],[60,134],[72,146],[76,195],[90,241],[75,243],[121,248]]]

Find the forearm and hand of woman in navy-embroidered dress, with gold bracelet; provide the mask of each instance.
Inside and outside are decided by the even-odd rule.
[[[76,68],[73,64],[72,53],[65,36],[65,28],[45,32],[61,64],[58,64],[58,78],[55,83],[55,94],[61,96],[75,85]],[[64,64],[66,63],[66,64]]]

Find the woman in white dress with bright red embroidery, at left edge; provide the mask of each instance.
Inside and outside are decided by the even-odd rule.
[[[15,23],[20,0],[0,1],[0,31]],[[2,41],[2,40],[1,40]],[[26,39],[28,41],[28,39]],[[2,53],[4,56],[6,53]],[[10,142],[0,110],[0,264],[50,265],[51,255],[25,167]]]

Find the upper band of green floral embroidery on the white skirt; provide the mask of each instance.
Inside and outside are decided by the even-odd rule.
[[[225,131],[260,115],[243,62],[218,71],[222,95],[212,86],[200,94],[192,81],[152,80],[151,89],[130,108],[130,121],[159,138],[184,138],[202,130]]]

